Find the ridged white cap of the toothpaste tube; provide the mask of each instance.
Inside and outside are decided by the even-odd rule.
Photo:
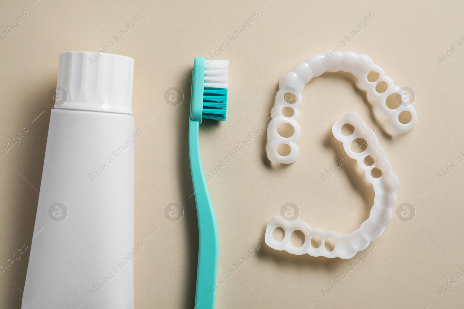
[[[59,55],[54,107],[132,114],[134,59],[91,51]]]

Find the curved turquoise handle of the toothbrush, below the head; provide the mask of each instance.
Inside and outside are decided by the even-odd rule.
[[[188,127],[190,169],[192,171],[199,231],[195,309],[213,309],[219,258],[218,227],[214,216],[213,204],[211,203],[206,185],[205,174],[201,166],[198,137],[199,125],[198,121],[190,119]]]

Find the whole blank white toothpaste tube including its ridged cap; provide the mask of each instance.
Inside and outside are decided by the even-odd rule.
[[[93,55],[60,54],[22,309],[134,308],[134,60]]]

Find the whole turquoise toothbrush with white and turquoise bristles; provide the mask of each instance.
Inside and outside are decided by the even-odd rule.
[[[188,150],[198,216],[199,249],[195,309],[213,309],[219,258],[218,227],[201,166],[198,129],[202,119],[226,121],[229,60],[195,58],[192,72]]]

